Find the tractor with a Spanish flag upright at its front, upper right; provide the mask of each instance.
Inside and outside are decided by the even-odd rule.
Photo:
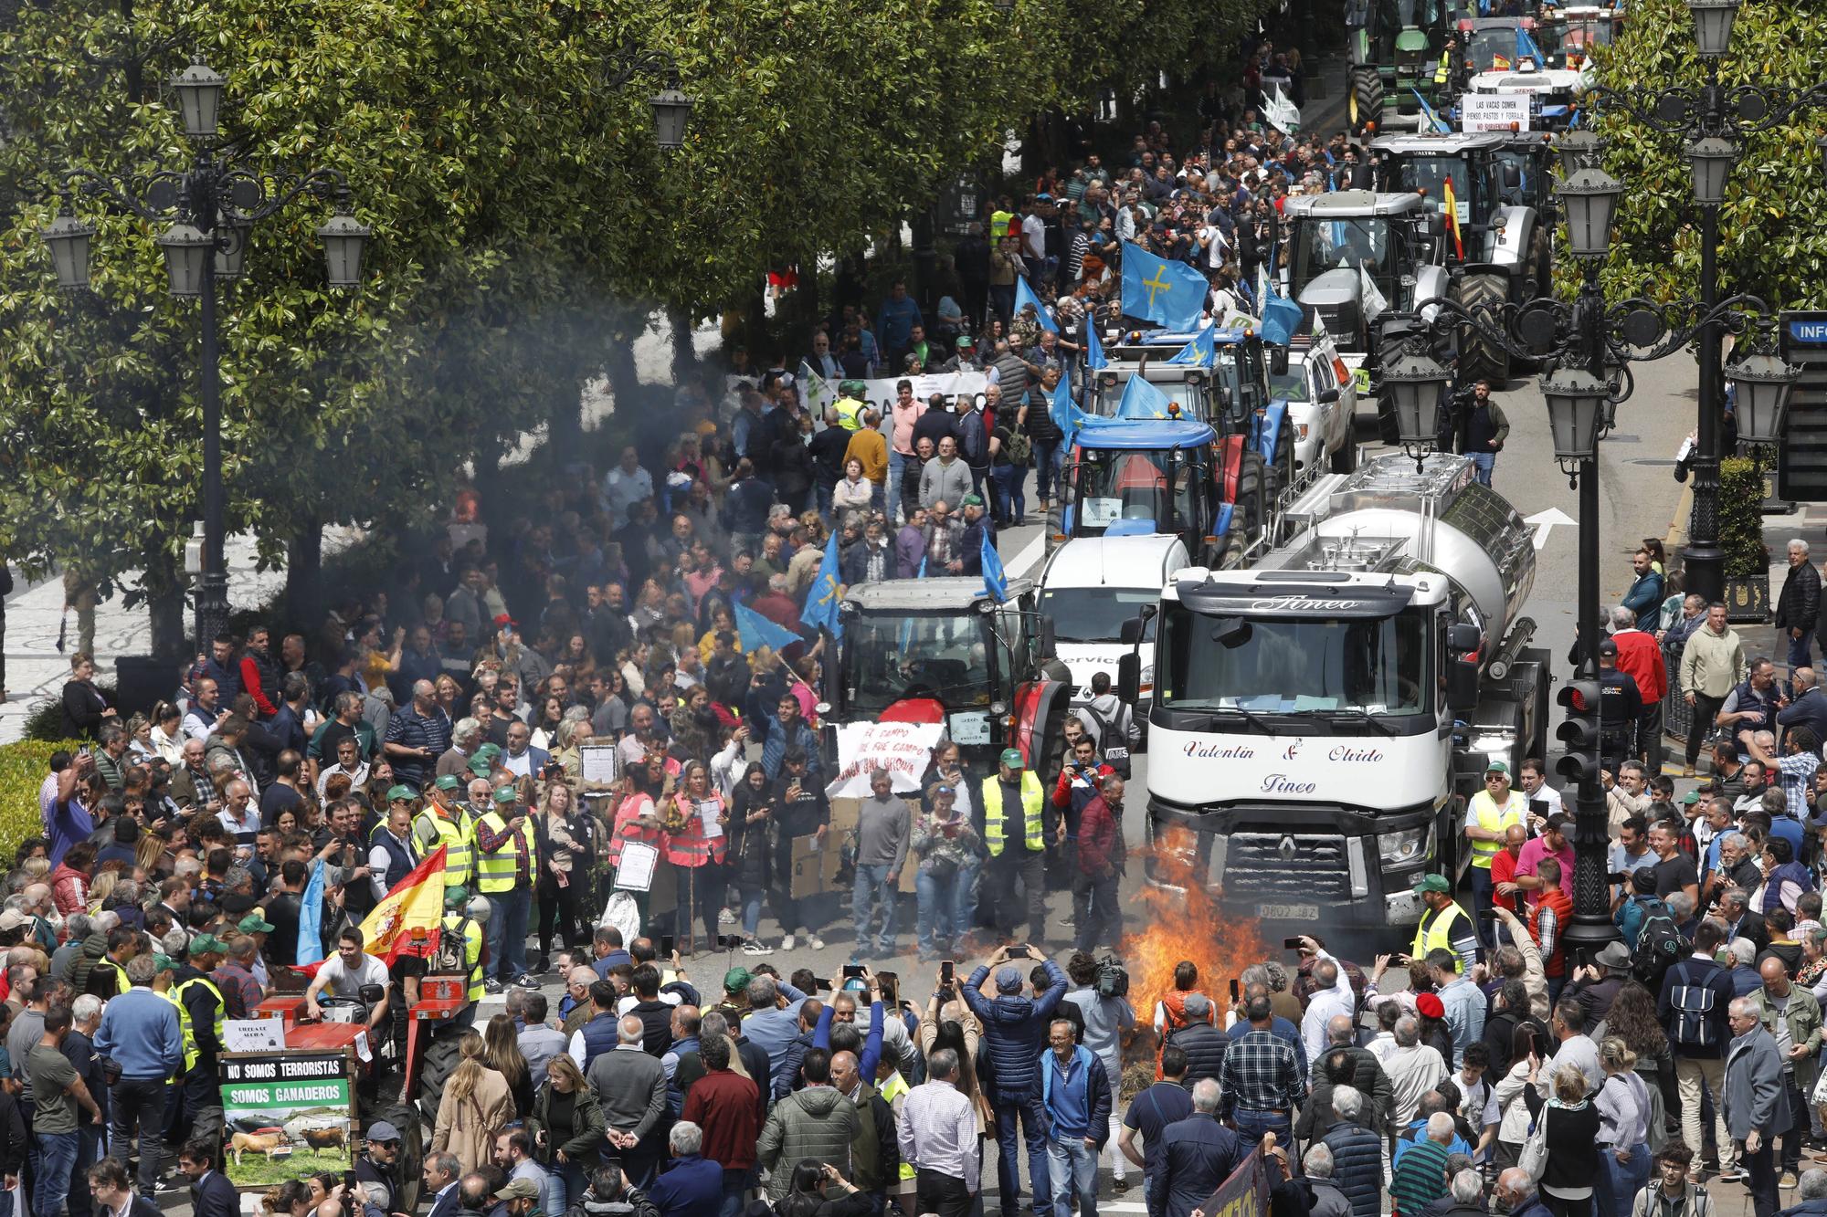
[[[1383,135],[1370,144],[1378,185],[1420,196],[1440,217],[1431,261],[1445,267],[1447,294],[1467,309],[1496,311],[1553,291],[1549,225],[1527,203],[1511,201],[1526,197],[1526,183],[1542,188],[1546,161],[1537,161],[1531,179],[1515,161],[1515,141],[1507,132],[1452,132]],[[1454,217],[1445,216],[1449,183],[1458,239]],[[1460,360],[1469,378],[1484,376],[1494,386],[1509,380],[1509,355],[1471,327],[1460,333]]]

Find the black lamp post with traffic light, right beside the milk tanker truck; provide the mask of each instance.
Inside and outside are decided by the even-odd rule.
[[[1421,455],[1440,433],[1440,391],[1451,373],[1431,356],[1465,327],[1513,358],[1542,360],[1542,398],[1547,404],[1555,460],[1580,492],[1579,519],[1579,643],[1573,680],[1562,689],[1569,722],[1560,738],[1569,744],[1557,771],[1575,784],[1573,925],[1569,947],[1597,948],[1617,937],[1606,894],[1606,797],[1599,778],[1599,440],[1611,428],[1619,402],[1633,387],[1630,365],[1659,360],[1705,336],[1712,327],[1758,336],[1750,355],[1728,376],[1741,400],[1756,398],[1758,437],[1781,431],[1796,369],[1772,353],[1774,316],[1752,296],[1653,302],[1630,298],[1610,303],[1599,285],[1599,267],[1610,252],[1611,219],[1624,186],[1597,168],[1600,141],[1569,141],[1557,190],[1568,225],[1568,249],[1582,274],[1573,300],[1542,298],[1527,303],[1467,309],[1447,298],[1429,302],[1421,314],[1401,318],[1409,333],[1385,347],[1383,386],[1392,395],[1403,451]],[[1431,395],[1431,397],[1429,397]]]

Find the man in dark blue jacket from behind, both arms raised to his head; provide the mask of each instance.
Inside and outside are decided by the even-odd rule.
[[[996,1113],[996,1180],[1005,1213],[1021,1208],[1021,1179],[1016,1169],[1016,1118],[1021,1120],[1021,1138],[1027,1142],[1029,1180],[1034,1184],[1034,1212],[1052,1208],[1049,1201],[1045,1113],[1040,1100],[1040,1056],[1047,1023],[1065,996],[1065,972],[1052,959],[1041,959],[1047,970],[1047,992],[1038,998],[1021,996],[1019,968],[1003,967],[1016,947],[1001,947],[965,981],[965,1005],[983,1023],[990,1051],[994,1078],[990,1082],[990,1109]],[[1036,956],[1032,947],[1019,947],[1021,956]],[[981,989],[990,968],[996,972],[996,998],[985,998]]]

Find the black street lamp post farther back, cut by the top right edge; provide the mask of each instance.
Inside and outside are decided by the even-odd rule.
[[[1608,106],[1624,110],[1639,122],[1664,135],[1683,139],[1683,153],[1694,175],[1694,205],[1699,208],[1701,281],[1699,312],[1710,316],[1719,305],[1719,206],[1725,183],[1745,144],[1745,137],[1774,130],[1789,119],[1827,108],[1827,84],[1801,90],[1719,82],[1719,60],[1732,44],[1732,22],[1739,0],[1686,0],[1694,15],[1694,49],[1706,68],[1699,88],[1652,90],[1641,86],[1593,88],[1584,93],[1599,113]],[[1827,139],[1818,141],[1827,153]],[[1727,327],[1719,318],[1705,322],[1699,347],[1699,417],[1694,433],[1694,510],[1688,543],[1683,546],[1686,588],[1708,601],[1725,598],[1725,552],[1719,548],[1719,451],[1725,404],[1721,387],[1721,342]],[[1743,431],[1741,431],[1743,435]]]

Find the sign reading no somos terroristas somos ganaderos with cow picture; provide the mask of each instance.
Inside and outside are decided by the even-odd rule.
[[[236,1188],[354,1166],[343,1053],[225,1056],[221,1095],[223,1159]]]

